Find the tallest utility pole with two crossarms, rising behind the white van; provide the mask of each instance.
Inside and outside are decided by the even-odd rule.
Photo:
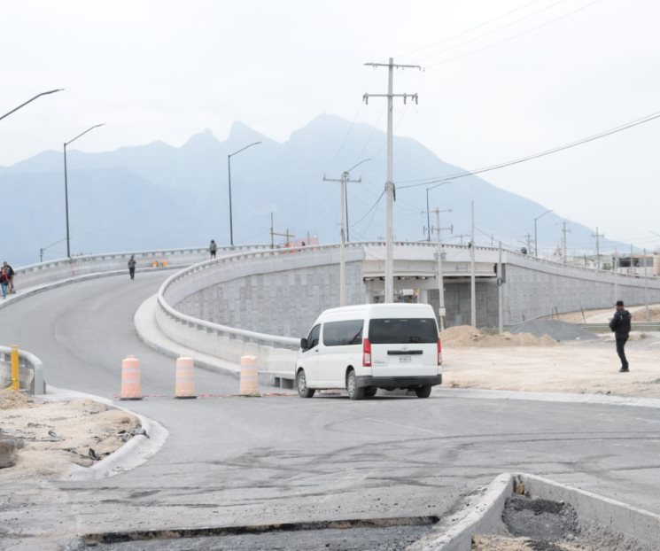
[[[387,78],[387,94],[365,94],[363,96],[364,102],[369,104],[369,97],[387,97],[387,181],[385,182],[385,194],[387,196],[387,218],[385,221],[386,225],[386,236],[385,236],[385,302],[394,302],[394,274],[393,274],[393,263],[394,263],[394,221],[393,221],[393,209],[394,209],[394,176],[393,176],[393,167],[392,167],[392,114],[393,114],[393,99],[394,97],[403,97],[403,103],[405,104],[410,97],[415,104],[417,103],[417,94],[394,94],[393,93],[393,81],[394,81],[394,67],[398,69],[422,69],[421,66],[416,65],[394,65],[394,59],[390,58],[388,63],[365,63],[367,66],[372,67],[387,67],[388,68],[388,78]]]

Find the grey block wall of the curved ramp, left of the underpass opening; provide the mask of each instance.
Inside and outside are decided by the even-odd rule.
[[[366,302],[362,262],[346,262],[346,304]],[[210,285],[175,305],[182,314],[237,329],[301,338],[326,308],[339,306],[339,268],[320,264],[245,275]]]

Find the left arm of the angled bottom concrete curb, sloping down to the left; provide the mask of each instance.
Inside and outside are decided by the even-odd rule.
[[[406,551],[470,551],[472,536],[497,532],[504,502],[513,493],[513,477],[501,474],[485,489],[458,504],[456,513],[444,517],[431,532],[406,547]]]

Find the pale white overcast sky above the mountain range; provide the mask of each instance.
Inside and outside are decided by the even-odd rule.
[[[364,63],[389,57],[424,67],[395,73],[395,92],[419,94],[419,105],[397,103],[395,133],[468,170],[660,111],[654,0],[0,0],[0,8],[0,116],[66,88],[0,121],[0,166],[61,150],[99,122],[106,126],[75,149],[178,146],[204,128],[223,140],[234,120],[284,142],[320,113],[384,129],[384,100],[361,97],[386,91],[386,71]],[[484,177],[606,237],[653,248],[659,136],[660,119]]]

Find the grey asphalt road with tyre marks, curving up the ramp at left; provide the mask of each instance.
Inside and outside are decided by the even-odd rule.
[[[198,392],[215,396],[174,400],[174,361],[141,343],[132,322],[165,277],[105,277],[0,310],[0,342],[42,358],[47,382],[58,387],[113,398],[121,359],[134,354],[151,397],[128,407],[170,432],[151,460],[116,477],[4,487],[5,542],[19,548],[28,535],[57,542],[72,532],[443,516],[505,471],[660,513],[656,409],[465,399],[450,389],[428,400],[238,398],[227,397],[237,392],[236,378],[201,369]]]

